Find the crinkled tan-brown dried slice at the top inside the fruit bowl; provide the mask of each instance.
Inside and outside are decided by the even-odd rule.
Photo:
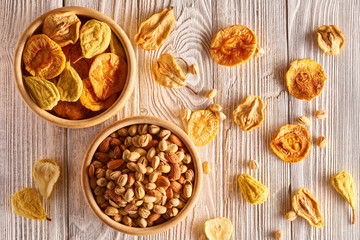
[[[79,39],[80,19],[73,12],[54,12],[47,15],[43,33],[61,47],[74,44]]]

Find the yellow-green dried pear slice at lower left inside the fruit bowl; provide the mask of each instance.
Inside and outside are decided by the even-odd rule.
[[[40,108],[51,110],[60,100],[60,93],[52,82],[31,76],[24,76],[24,80],[27,90]]]

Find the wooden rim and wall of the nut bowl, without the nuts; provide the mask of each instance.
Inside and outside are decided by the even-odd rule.
[[[146,227],[146,228],[138,228],[138,227],[128,227],[122,223],[115,222],[113,219],[111,219],[109,216],[107,216],[99,207],[99,205],[96,203],[95,198],[93,196],[92,190],[90,188],[90,182],[89,182],[89,166],[92,162],[93,156],[100,145],[100,143],[108,137],[111,133],[115,132],[116,130],[127,127],[134,124],[155,124],[157,126],[166,128],[173,132],[175,135],[177,135],[185,144],[185,146],[188,148],[189,153],[192,156],[193,164],[194,164],[194,173],[195,173],[195,181],[193,184],[193,193],[191,198],[188,200],[186,205],[181,209],[181,211],[178,213],[178,215],[162,224],[152,226],[152,227]],[[104,130],[102,130],[95,139],[91,142],[81,168],[81,187],[83,190],[84,197],[86,199],[86,202],[90,206],[91,210],[95,213],[95,215],[100,218],[101,221],[103,221],[108,226],[112,227],[113,229],[127,233],[132,235],[152,235],[164,232],[174,226],[176,226],[179,222],[181,222],[194,208],[199,195],[201,191],[202,186],[202,167],[201,167],[201,159],[197,152],[197,149],[194,145],[194,143],[191,141],[191,139],[188,137],[188,135],[180,129],[178,126],[174,125],[173,123],[170,123],[166,120],[156,118],[156,117],[149,117],[149,116],[135,116],[130,118],[125,118],[122,120],[119,120],[110,126],[106,127]]]

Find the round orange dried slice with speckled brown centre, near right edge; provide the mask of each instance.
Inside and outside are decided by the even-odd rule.
[[[295,60],[286,73],[289,93],[297,99],[311,100],[320,95],[326,76],[320,64],[311,59]]]

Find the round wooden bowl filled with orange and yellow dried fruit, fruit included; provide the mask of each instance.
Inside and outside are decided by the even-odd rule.
[[[26,28],[13,69],[33,112],[61,127],[85,128],[125,106],[135,86],[136,59],[114,20],[93,9],[63,7]]]

